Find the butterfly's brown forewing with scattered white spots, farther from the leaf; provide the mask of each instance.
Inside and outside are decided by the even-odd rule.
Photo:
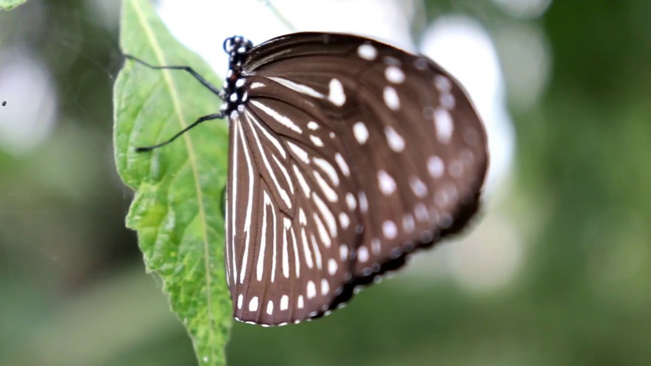
[[[458,82],[436,63],[331,33],[279,37],[250,55],[247,74],[301,94],[292,106],[316,106],[317,122],[337,136],[350,169],[350,191],[338,192],[354,194],[362,229],[352,285],[401,266],[406,253],[462,229],[475,213],[486,134]],[[333,158],[331,150],[316,153]]]

